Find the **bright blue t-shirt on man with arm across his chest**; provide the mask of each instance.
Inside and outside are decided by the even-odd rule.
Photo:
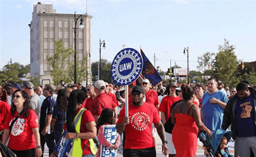
[[[210,103],[210,99],[215,97],[224,103],[227,103],[227,95],[221,91],[216,91],[214,94],[209,94],[208,91],[204,93],[202,98],[202,115],[204,120],[204,125],[209,130],[218,130],[221,128],[223,111],[224,108],[219,106],[217,103]]]

